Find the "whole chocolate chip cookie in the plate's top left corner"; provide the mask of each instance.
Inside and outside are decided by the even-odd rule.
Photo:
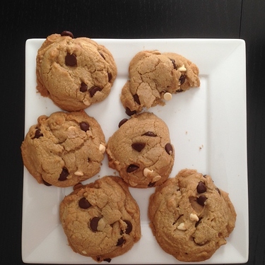
[[[110,51],[88,37],[52,34],[37,52],[37,90],[69,112],[101,102],[117,77]]]

